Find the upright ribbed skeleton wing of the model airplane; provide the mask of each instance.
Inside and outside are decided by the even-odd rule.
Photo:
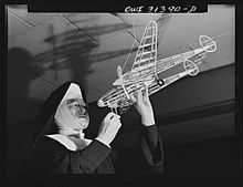
[[[147,23],[140,40],[131,74],[135,80],[146,79],[156,72],[158,27],[155,21]]]

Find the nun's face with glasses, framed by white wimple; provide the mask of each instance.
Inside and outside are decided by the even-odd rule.
[[[89,123],[89,115],[87,113],[87,105],[83,98],[70,98],[66,100],[66,104],[71,114],[83,127],[87,127]]]

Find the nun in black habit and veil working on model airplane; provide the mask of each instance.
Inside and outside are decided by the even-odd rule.
[[[131,97],[141,116],[136,147],[116,148],[110,143],[122,127],[120,116],[108,113],[101,123],[97,137],[88,139],[84,129],[89,115],[83,89],[66,82],[45,101],[38,135],[30,156],[28,174],[126,174],[163,173],[163,147],[148,97],[138,92]]]

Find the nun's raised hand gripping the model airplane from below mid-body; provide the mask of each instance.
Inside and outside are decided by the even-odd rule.
[[[154,111],[148,97],[148,87],[146,86],[144,94],[138,91],[135,96],[131,95],[131,101],[141,116],[141,124],[145,126],[155,125]]]

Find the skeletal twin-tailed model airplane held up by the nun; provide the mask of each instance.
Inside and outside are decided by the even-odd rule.
[[[205,53],[216,50],[216,43],[212,39],[200,35],[201,48],[157,60],[157,23],[155,21],[148,22],[131,70],[123,74],[122,67],[117,66],[118,79],[113,83],[115,87],[98,100],[99,107],[107,106],[112,112],[123,114],[133,105],[130,95],[135,95],[139,90],[145,92],[145,86],[148,86],[148,95],[151,95],[186,75],[197,75],[199,73],[198,65],[205,58]],[[198,59],[189,60],[193,56],[198,56]],[[183,65],[183,72],[165,79],[158,77],[159,73],[180,63]]]

